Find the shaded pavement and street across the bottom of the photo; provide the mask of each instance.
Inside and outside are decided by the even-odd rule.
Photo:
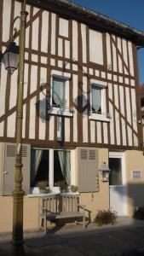
[[[9,234],[0,236],[0,256],[144,256],[144,222],[118,220],[116,226],[67,225],[61,229],[26,232],[23,247],[14,248]]]

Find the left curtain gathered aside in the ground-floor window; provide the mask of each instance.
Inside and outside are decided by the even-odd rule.
[[[38,166],[42,159],[43,150],[32,149],[32,172],[31,172],[31,183],[34,183],[35,177],[37,175]]]

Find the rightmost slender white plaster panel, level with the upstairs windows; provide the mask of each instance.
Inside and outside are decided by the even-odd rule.
[[[136,113],[136,97],[135,97],[135,89],[131,89],[131,102],[132,102],[132,120],[133,120],[133,128],[137,132],[137,113]]]

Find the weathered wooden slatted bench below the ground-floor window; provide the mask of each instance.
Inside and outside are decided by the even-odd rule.
[[[60,218],[83,218],[85,228],[85,207],[78,204],[78,195],[46,195],[39,198],[40,229],[43,228],[46,233],[47,221]]]

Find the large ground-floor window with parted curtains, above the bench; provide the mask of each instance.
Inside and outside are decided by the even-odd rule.
[[[39,181],[48,181],[49,187],[57,187],[57,183],[65,180],[71,185],[71,151],[32,148],[31,154],[31,187]]]

